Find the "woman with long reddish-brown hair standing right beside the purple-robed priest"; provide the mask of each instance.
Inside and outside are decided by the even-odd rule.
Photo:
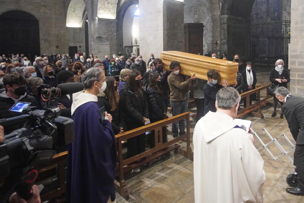
[[[119,96],[114,77],[106,80],[107,87],[103,93],[97,95],[99,107],[105,107],[105,111],[112,115],[112,129],[115,135],[122,133],[124,128],[123,115],[119,115]]]

